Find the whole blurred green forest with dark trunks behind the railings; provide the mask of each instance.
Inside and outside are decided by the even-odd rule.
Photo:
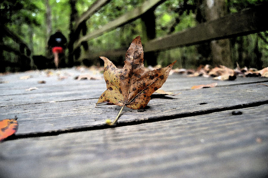
[[[49,36],[60,29],[70,40],[73,20],[87,11],[96,0],[4,0],[0,3],[1,29],[0,36],[0,72],[23,71],[36,69],[33,55],[48,56],[47,42]],[[101,7],[86,21],[86,32],[94,32],[111,20],[126,12],[141,6],[145,0],[111,0]],[[155,9],[146,12],[141,18],[120,26],[112,31],[86,42],[89,53],[98,51],[128,48],[132,39],[140,35],[142,43],[163,37],[168,34],[183,31],[198,23],[214,20],[241,9],[250,8],[265,0],[168,0],[163,1]],[[208,6],[214,3],[214,10]],[[83,32],[84,33],[84,32]],[[247,36],[223,39],[217,42],[225,48],[224,60],[219,56],[217,46],[213,42],[188,47],[178,47],[172,50],[151,53],[155,60],[145,61],[145,65],[160,64],[166,66],[177,60],[176,68],[196,68],[200,64],[225,65],[262,69],[268,66],[268,32],[260,32]],[[25,55],[21,55],[24,53]],[[99,59],[83,60],[79,58],[85,50],[81,48],[74,63],[68,63],[68,48],[66,62],[72,65],[102,65]],[[28,56],[28,57],[27,57]],[[146,57],[144,59],[146,60]],[[110,58],[109,56],[106,56]],[[29,63],[21,67],[20,61]],[[111,58],[115,64],[123,64],[123,58]],[[19,66],[16,64],[20,64]]]

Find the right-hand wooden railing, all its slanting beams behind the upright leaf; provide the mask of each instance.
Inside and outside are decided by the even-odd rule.
[[[154,9],[163,2],[164,0],[145,1],[132,11],[125,13],[113,21],[110,21],[102,28],[93,31],[90,34],[86,34],[85,36],[80,36],[80,38],[73,45],[74,49],[79,48],[82,42],[94,39],[98,36],[101,36],[105,32],[109,32],[115,28],[132,22],[137,18],[140,18],[145,12],[150,9]],[[95,4],[76,21],[77,25],[75,26],[79,26],[79,23],[90,18],[90,16],[96,12],[97,9],[100,9],[107,3],[108,1],[103,0],[96,1]],[[268,17],[267,8],[268,5],[265,3],[252,9],[244,9],[241,12],[232,13],[216,20],[198,24],[194,28],[189,28],[186,31],[150,40],[143,44],[144,52],[167,50],[176,47],[209,42],[215,39],[225,39],[234,36],[243,36],[260,31],[266,31],[268,30],[268,24],[266,23],[265,19]],[[122,56],[125,54],[125,52],[126,49],[114,49],[96,53],[86,52],[84,55],[80,56],[80,59],[95,59],[101,55]]]

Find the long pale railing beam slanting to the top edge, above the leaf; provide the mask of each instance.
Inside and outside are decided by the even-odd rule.
[[[81,42],[88,41],[90,39],[94,39],[104,32],[111,31],[119,26],[123,26],[124,24],[130,23],[133,20],[139,18],[142,14],[144,14],[149,9],[157,7],[159,4],[163,3],[166,0],[148,0],[141,4],[139,7],[136,7],[130,12],[125,13],[119,18],[107,23],[105,26],[100,28],[99,30],[93,31],[91,34],[85,35],[81,37],[78,42],[74,43],[74,49],[76,49]]]

